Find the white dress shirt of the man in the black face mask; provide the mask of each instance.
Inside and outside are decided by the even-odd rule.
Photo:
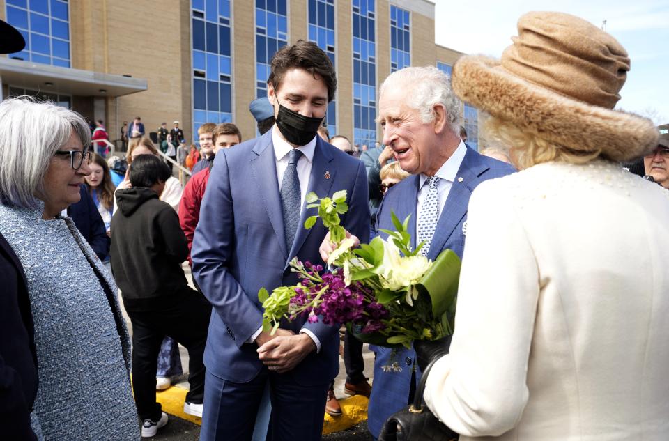
[[[277,180],[279,180],[279,192],[281,192],[281,184],[282,181],[284,180],[284,173],[286,173],[286,169],[288,168],[288,156],[294,147],[291,146],[291,144],[289,144],[288,141],[283,139],[281,134],[279,134],[279,129],[277,128],[276,125],[272,127],[272,144],[274,145],[274,157],[277,165]],[[314,137],[314,139],[309,141],[309,144],[298,147],[298,150],[302,152],[302,156],[300,156],[300,159],[298,160],[296,169],[298,172],[298,179],[300,180],[300,197],[301,197],[301,206],[303,210],[305,207],[305,197],[307,196],[307,188],[309,187],[309,176],[311,176],[312,174],[314,152],[316,151],[316,137]],[[262,330],[263,327],[262,326],[259,327],[259,329],[253,333],[248,342],[252,343],[253,341],[255,341],[262,332]],[[302,330],[300,330],[300,334],[302,333],[307,334],[309,337],[311,337],[314,343],[316,343],[316,353],[321,352],[321,341],[318,340],[316,334],[305,328],[302,328]]]

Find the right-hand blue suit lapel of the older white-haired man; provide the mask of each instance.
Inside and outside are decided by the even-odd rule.
[[[444,209],[437,222],[430,245],[428,258],[434,260],[443,251],[453,235],[456,226],[467,215],[467,207],[472,192],[480,182],[479,176],[489,167],[479,162],[479,154],[468,148],[460,164],[455,181],[448,193]],[[462,179],[460,179],[462,178]]]

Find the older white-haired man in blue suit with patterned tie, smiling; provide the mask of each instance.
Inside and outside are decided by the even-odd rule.
[[[444,249],[462,256],[472,191],[484,180],[514,172],[509,164],[465,146],[459,137],[459,109],[461,102],[452,93],[449,78],[434,67],[398,70],[380,88],[383,144],[413,176],[385,194],[377,231],[394,229],[391,212],[399,219],[410,215],[412,245],[425,241],[422,252],[432,260]],[[324,242],[322,248],[327,255],[330,245]],[[376,360],[367,423],[378,438],[385,420],[413,401],[420,371],[413,350],[392,355],[388,348],[372,349]]]

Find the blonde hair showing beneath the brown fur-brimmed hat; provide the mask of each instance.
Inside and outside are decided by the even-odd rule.
[[[601,149],[594,152],[580,152],[560,146],[494,116],[486,121],[485,130],[490,138],[509,147],[518,170],[551,161],[586,164],[601,154]]]

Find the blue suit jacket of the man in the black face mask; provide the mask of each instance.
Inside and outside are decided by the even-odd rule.
[[[348,231],[361,240],[369,237],[367,175],[362,162],[320,138],[312,162],[307,192],[319,197],[348,191],[349,210],[342,218]],[[204,295],[213,304],[204,355],[210,373],[232,382],[248,382],[261,371],[257,346],[246,343],[262,323],[260,288],[296,284],[289,268],[294,256],[320,263],[318,247],[327,230],[319,221],[311,230],[302,226],[316,209],[302,209],[302,219],[292,249],[286,249],[284,223],[277,183],[272,132],[216,155],[200,220],[195,230],[193,273]],[[293,369],[295,382],[318,385],[337,376],[338,327],[305,323],[298,319],[282,327],[300,332],[309,329],[321,341]]]

